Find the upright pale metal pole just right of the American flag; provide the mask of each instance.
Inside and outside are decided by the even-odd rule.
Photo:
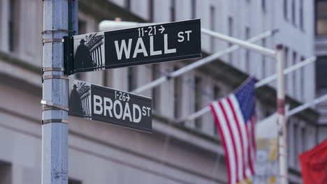
[[[277,116],[278,116],[278,152],[279,152],[279,183],[288,183],[287,147],[286,147],[286,116],[284,91],[284,49],[276,47],[277,63]]]

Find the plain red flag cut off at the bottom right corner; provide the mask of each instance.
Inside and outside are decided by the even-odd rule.
[[[304,184],[327,183],[327,139],[299,158]]]

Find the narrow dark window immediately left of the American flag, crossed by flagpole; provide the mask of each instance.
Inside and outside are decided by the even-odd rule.
[[[194,86],[195,86],[195,95],[194,95],[194,109],[196,112],[201,109],[202,107],[202,95],[201,95],[201,78],[195,77],[194,79]],[[198,130],[201,130],[202,128],[202,118],[198,117],[195,119],[195,127]]]

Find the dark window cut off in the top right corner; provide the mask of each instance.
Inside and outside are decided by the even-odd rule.
[[[316,34],[327,35],[327,0],[316,0]]]

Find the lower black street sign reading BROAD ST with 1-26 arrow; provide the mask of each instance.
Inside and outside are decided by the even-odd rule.
[[[69,79],[69,115],[152,132],[152,99]]]

